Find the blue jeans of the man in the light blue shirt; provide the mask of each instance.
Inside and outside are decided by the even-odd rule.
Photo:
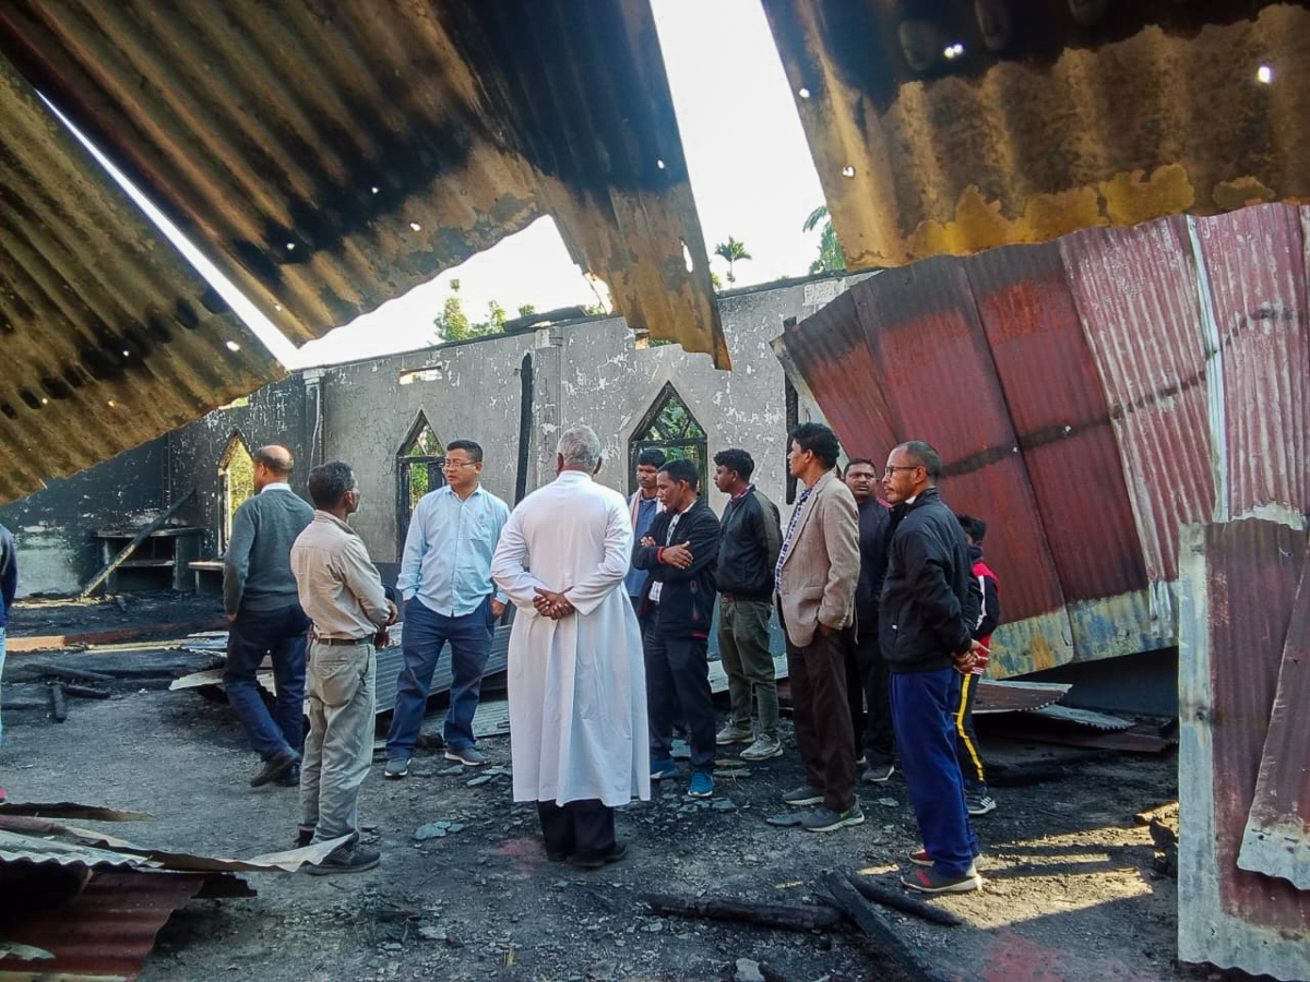
[[[432,672],[445,643],[451,643],[451,708],[445,714],[445,742],[451,748],[473,746],[473,714],[482,691],[482,672],[491,653],[491,597],[472,614],[447,617],[414,597],[405,605],[401,652],[405,666],[396,680],[396,710],[386,735],[386,758],[413,757],[414,740],[423,725],[423,710],[432,686]]]

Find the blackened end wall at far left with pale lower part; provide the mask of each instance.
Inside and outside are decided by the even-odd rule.
[[[18,596],[76,593],[101,567],[92,533],[143,525],[168,507],[168,437],[0,507],[18,553]]]

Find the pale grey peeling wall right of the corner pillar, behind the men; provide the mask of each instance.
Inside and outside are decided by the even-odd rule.
[[[355,469],[364,498],[352,524],[386,577],[401,546],[396,457],[421,411],[443,446],[461,437],[482,444],[483,486],[514,504],[520,368],[531,355],[528,491],[554,478],[555,440],[572,423],[592,426],[604,443],[607,464],[599,479],[630,491],[629,440],[664,384],[672,382],[705,428],[710,456],[727,446],[748,450],[756,460],[756,483],[785,508],[785,384],[770,342],[782,333],[783,318],[807,317],[844,288],[842,279],[821,279],[720,296],[731,373],[676,344],[637,347],[618,317],[321,369],[322,454]],[[421,371],[439,377],[401,384]],[[823,419],[804,395],[799,419]],[[723,496],[711,482],[706,487],[709,503],[720,511]]]

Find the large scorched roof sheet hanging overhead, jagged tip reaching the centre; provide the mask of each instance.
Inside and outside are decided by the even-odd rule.
[[[13,0],[0,51],[292,338],[552,213],[728,367],[648,0]]]

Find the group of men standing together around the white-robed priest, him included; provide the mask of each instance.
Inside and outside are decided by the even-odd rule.
[[[740,449],[714,458],[715,484],[728,495],[720,521],[688,460],[643,452],[638,491],[626,501],[596,483],[600,441],[590,427],[565,431],[557,479],[512,513],[479,487],[482,449],[452,443],[447,484],[418,503],[401,562],[405,664],[385,775],[407,774],[445,642],[453,678],[445,755],[485,763],[473,711],[495,621],[514,604],[515,799],[537,804],[552,860],[595,868],[622,859],[613,809],[647,799],[651,780],[677,773],[675,728],[686,732],[688,793],[696,797],[713,793],[717,748],[745,744],[747,761],[782,754],[769,653],[777,610],[804,767],[804,783],[783,795],[804,809],[795,824],[831,831],[862,822],[857,758],[865,758],[866,779],[886,780],[895,744],[924,837],[910,856],[920,868],[905,885],[975,889],[979,850],[954,720],[962,672],[981,651],[972,636],[980,605],[968,542],[937,494],[941,458],[927,444],[907,443],[888,457],[882,486],[891,511],[872,494],[874,465],[852,461],[842,482],[838,454],[828,427],[807,423],[790,435],[789,473],[804,487],[783,532]],[[359,507],[350,467],[314,469],[307,516],[278,498],[290,492],[290,453],[263,448],[255,461],[259,495],[237,513],[241,528],[249,521],[255,532],[238,537],[234,529],[228,556],[229,691],[265,759],[252,783],[290,782],[299,766],[300,842],[342,839],[317,871],[369,868],[377,852],[359,842],[355,805],[371,757],[375,632],[396,619],[396,606],[346,524]],[[265,575],[283,568],[274,554],[290,554],[293,593]],[[722,729],[707,676],[715,609],[732,704]],[[275,655],[279,707],[284,678],[288,702],[296,697],[296,672],[276,665],[279,657],[293,661],[279,652],[295,652],[299,634],[304,680],[309,622],[310,732],[301,752],[299,719],[291,724],[290,708],[287,720],[280,710],[276,720],[261,718],[246,680],[253,685],[253,652],[263,647]]]

